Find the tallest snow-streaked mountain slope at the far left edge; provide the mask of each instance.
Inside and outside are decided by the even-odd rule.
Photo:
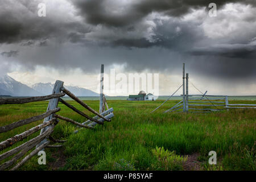
[[[42,96],[42,93],[5,75],[0,77],[0,95],[9,96]]]

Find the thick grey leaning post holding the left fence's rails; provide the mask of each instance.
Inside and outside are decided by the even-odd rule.
[[[60,88],[63,86],[63,81],[60,81],[60,80],[56,80],[55,82],[55,85],[53,87],[53,90],[52,90],[52,94],[55,94],[55,93],[60,93],[61,90]],[[51,109],[55,109],[58,105],[58,102],[59,102],[59,97],[57,98],[52,98],[51,100],[49,100],[49,103],[48,103],[48,107],[47,107],[47,111],[48,110],[51,110]],[[44,122],[47,122],[49,121],[50,119],[52,118],[52,114],[49,115],[48,117],[44,118]],[[40,131],[40,134],[42,134],[44,131],[47,130],[48,127],[44,127],[41,131]],[[44,142],[47,142],[47,139],[43,139],[42,142],[40,142],[36,148],[38,148],[40,145],[42,145]]]

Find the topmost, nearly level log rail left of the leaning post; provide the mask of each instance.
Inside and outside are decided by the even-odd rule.
[[[63,97],[65,93],[56,93],[48,96],[39,96],[39,97],[26,97],[26,98],[1,98],[0,105],[2,104],[25,104],[28,102],[36,102],[36,101],[46,101],[51,98]]]

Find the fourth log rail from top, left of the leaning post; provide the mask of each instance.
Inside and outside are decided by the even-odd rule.
[[[20,146],[15,147],[15,148],[11,149],[10,151],[5,152],[4,154],[1,154],[0,160],[8,158],[11,155],[14,155],[15,153],[19,152],[20,150],[23,150],[24,148],[26,148],[27,146],[30,146],[31,144],[41,142],[44,138],[46,138],[48,135],[50,135],[52,133],[53,128],[54,128],[54,126],[51,126],[46,131],[44,131],[44,133],[38,135],[37,137],[32,138],[31,140],[28,140],[28,142],[23,143]]]

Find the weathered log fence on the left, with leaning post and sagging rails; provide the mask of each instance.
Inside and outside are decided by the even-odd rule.
[[[91,113],[95,114],[95,117],[89,117],[89,115],[85,114],[84,112],[76,109],[76,107],[72,106],[71,104],[68,104],[68,102],[64,101],[61,97],[63,96],[69,96],[73,100],[75,100],[77,103],[79,103],[81,106],[83,106],[85,109],[89,110]],[[104,94],[103,94],[104,97]],[[65,89],[63,87],[63,81],[57,80],[55,82],[55,86],[53,88],[52,94],[48,96],[40,96],[40,97],[28,97],[28,98],[9,98],[9,99],[0,99],[0,105],[3,104],[25,104],[28,102],[36,102],[36,101],[46,101],[49,100],[48,107],[46,113],[27,118],[22,119],[20,121],[11,123],[10,125],[1,126],[0,127],[0,133],[5,133],[7,131],[13,130],[17,127],[27,125],[28,123],[32,123],[35,121],[39,121],[40,119],[44,119],[43,123],[32,127],[31,129],[24,131],[23,133],[17,134],[14,137],[11,137],[9,139],[6,139],[0,143],[0,151],[5,150],[8,147],[13,146],[13,144],[22,141],[29,135],[35,133],[36,131],[40,131],[40,134],[32,138],[31,140],[28,140],[25,143],[20,144],[18,147],[12,148],[11,150],[3,153],[0,155],[0,162],[6,158],[9,158],[10,156],[14,155],[13,158],[8,160],[7,162],[4,162],[0,165],[0,171],[5,170],[7,168],[10,168],[10,170],[18,169],[22,164],[27,162],[28,159],[30,159],[32,156],[38,154],[39,151],[44,150],[46,147],[52,147],[52,148],[58,148],[62,147],[63,145],[49,145],[51,140],[53,143],[64,143],[66,140],[58,140],[51,137],[51,134],[59,122],[59,119],[67,122],[71,122],[74,125],[77,125],[79,127],[83,127],[86,129],[93,129],[96,124],[103,125],[104,121],[110,121],[110,118],[114,117],[113,114],[113,108],[110,108],[105,111],[105,104],[106,99],[104,97],[104,109],[102,109],[102,113],[98,113],[97,111],[93,110],[90,106],[86,105],[83,101],[81,101],[78,97],[76,97],[73,93],[69,92],[69,90]],[[79,123],[74,121],[73,119],[63,117],[57,112],[60,111],[60,108],[57,107],[58,103],[61,102],[62,104],[66,105],[76,113],[82,115],[87,121],[84,123]],[[108,105],[106,104],[107,108]],[[78,130],[77,130],[78,131]],[[76,133],[77,133],[76,131]],[[26,153],[30,150],[32,150],[35,147],[35,149],[30,152],[27,156]],[[24,158],[23,158],[24,157]],[[23,158],[23,159],[21,159]],[[19,160],[21,159],[21,160]],[[19,160],[19,162],[18,162]],[[18,162],[18,163],[17,163]]]

